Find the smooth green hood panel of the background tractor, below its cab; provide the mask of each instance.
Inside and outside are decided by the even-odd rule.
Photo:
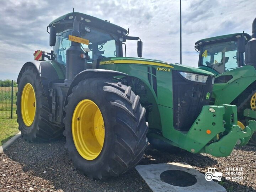
[[[215,79],[224,75],[232,75],[233,78],[226,83],[214,84],[212,94],[212,97],[215,98],[214,105],[231,103],[246,87],[256,80],[254,66],[241,66],[217,75]]]

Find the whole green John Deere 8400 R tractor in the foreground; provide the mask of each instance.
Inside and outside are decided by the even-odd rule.
[[[62,132],[74,166],[91,178],[118,176],[153,146],[228,156],[256,130],[237,124],[234,105],[209,105],[214,74],[159,60],[123,57],[128,31],[71,12],[50,22],[51,53],[18,75],[17,114],[29,142]],[[45,61],[48,58],[48,61]]]

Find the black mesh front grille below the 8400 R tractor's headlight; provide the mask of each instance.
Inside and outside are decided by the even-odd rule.
[[[207,92],[212,94],[212,77],[208,76],[206,83],[190,81],[178,71],[172,71],[173,82],[173,119],[174,128],[188,131],[204,105],[209,105]]]

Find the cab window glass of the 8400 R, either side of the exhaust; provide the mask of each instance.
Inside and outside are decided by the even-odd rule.
[[[98,29],[96,30],[92,27],[89,29],[90,32],[81,33],[81,38],[89,40],[89,45],[80,44],[84,52],[88,52],[88,55],[90,56],[90,60],[86,60],[86,62],[90,63],[95,59],[122,56],[120,53],[120,45],[116,41],[116,36]],[[71,41],[69,40],[71,31],[72,29],[68,29],[57,33],[53,51],[56,54],[55,57],[57,62],[60,64],[66,64],[66,50],[71,46]]]

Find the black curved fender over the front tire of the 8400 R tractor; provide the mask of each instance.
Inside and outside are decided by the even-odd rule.
[[[90,78],[112,78],[114,76],[128,76],[126,73],[122,73],[119,71],[112,71],[107,69],[86,69],[81,71],[75,78],[72,80],[68,92],[65,97],[64,107],[63,107],[63,116],[65,117],[65,106],[68,104],[68,96],[72,93],[72,89],[74,86],[79,84],[80,81]]]

